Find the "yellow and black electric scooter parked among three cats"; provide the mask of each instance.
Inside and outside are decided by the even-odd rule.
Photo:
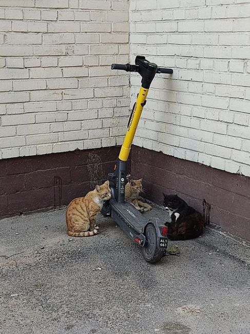
[[[158,67],[150,63],[144,56],[136,57],[135,65],[112,64],[111,69],[124,70],[127,72],[138,72],[142,77],[142,85],[134,103],[128,120],[127,132],[121,147],[119,158],[114,171],[108,174],[112,197],[103,205],[101,213],[110,216],[124,230],[134,243],[142,247],[142,254],[149,263],[160,261],[167,249],[168,226],[165,226],[158,218],[146,219],[130,203],[124,201],[126,184],[126,161],[129,156],[134,134],[142,114],[150,84],[156,73],[173,72],[170,68]]]

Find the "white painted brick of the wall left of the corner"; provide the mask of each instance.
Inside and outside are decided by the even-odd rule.
[[[0,18],[0,158],[116,145],[128,0],[0,0]]]

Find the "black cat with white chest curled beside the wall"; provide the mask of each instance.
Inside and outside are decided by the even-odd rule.
[[[164,209],[171,218],[168,225],[168,237],[171,240],[185,240],[198,237],[203,232],[202,215],[177,195],[165,195]]]

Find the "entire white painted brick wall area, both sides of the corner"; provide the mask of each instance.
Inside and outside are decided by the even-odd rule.
[[[0,158],[121,144],[140,78],[110,64],[130,52],[174,68],[134,143],[250,176],[249,0],[129,3],[0,0]]]

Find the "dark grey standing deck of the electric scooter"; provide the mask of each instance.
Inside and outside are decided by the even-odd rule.
[[[127,226],[132,226],[138,232],[142,233],[144,226],[147,224],[148,220],[134,208],[128,202],[118,203],[116,200],[110,200],[110,206],[112,208],[112,216],[118,216],[123,222],[127,224]],[[114,217],[114,218],[116,218]],[[119,224],[119,220],[116,221]]]

